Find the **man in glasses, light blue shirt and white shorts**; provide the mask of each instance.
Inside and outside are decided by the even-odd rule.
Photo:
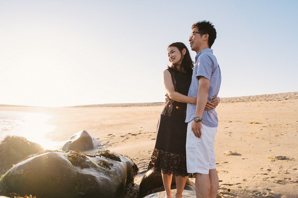
[[[211,22],[199,21],[192,26],[190,47],[197,53],[188,96],[197,97],[197,104],[187,104],[186,160],[187,172],[196,173],[197,198],[216,198],[218,175],[215,169],[214,138],[218,118],[215,109],[204,110],[207,100],[217,96],[221,71],[210,49],[216,38]]]

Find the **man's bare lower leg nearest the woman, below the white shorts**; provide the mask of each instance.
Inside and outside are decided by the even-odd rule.
[[[209,174],[195,174],[195,194],[197,198],[207,198],[210,192]]]

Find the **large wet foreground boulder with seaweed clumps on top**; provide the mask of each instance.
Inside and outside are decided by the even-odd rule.
[[[107,151],[45,151],[24,160],[0,179],[0,195],[43,198],[122,198],[138,168],[129,158]]]

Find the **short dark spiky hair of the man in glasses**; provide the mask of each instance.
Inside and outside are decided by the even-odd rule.
[[[210,21],[204,20],[204,21],[198,21],[194,23],[191,29],[194,29],[196,27],[199,29],[200,32],[206,33],[209,35],[208,45],[211,48],[216,38],[216,29],[214,28],[214,25],[212,25]]]

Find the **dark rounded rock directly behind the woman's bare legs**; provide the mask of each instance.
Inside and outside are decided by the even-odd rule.
[[[173,176],[171,189],[176,188],[176,180]],[[187,178],[184,189],[194,190],[190,180]],[[139,197],[145,197],[148,194],[153,194],[156,192],[164,191],[164,184],[162,182],[162,175],[159,172],[149,170],[144,174],[139,188]]]

